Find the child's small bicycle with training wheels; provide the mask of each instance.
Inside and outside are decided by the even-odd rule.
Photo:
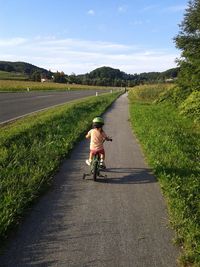
[[[111,141],[112,138],[105,139],[105,141]],[[86,176],[92,176],[93,180],[96,181],[97,177],[104,177],[107,178],[107,175],[102,175],[101,170],[103,170],[103,166],[101,166],[101,155],[99,152],[95,153],[92,158],[92,162],[90,164],[90,173],[84,173],[83,179],[85,179]]]

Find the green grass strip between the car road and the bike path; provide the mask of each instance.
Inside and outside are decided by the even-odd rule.
[[[61,160],[83,137],[93,117],[103,113],[119,94],[73,101],[1,127],[1,238],[51,184]]]

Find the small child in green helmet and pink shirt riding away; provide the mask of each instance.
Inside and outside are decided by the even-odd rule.
[[[104,120],[101,117],[96,117],[92,121],[93,129],[91,129],[86,138],[90,138],[90,155],[89,159],[86,160],[86,164],[90,165],[92,162],[93,155],[97,152],[101,156],[100,166],[106,168],[105,166],[105,150],[103,147],[104,141],[111,141],[112,139],[106,135],[103,130]]]

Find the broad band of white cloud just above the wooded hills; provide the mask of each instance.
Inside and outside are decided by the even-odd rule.
[[[100,66],[110,66],[132,74],[164,71],[175,67],[175,59],[179,56],[176,51],[148,50],[143,46],[111,42],[57,39],[54,36],[38,36],[29,40],[0,39],[0,45],[1,60],[25,61],[66,74],[86,73]]]

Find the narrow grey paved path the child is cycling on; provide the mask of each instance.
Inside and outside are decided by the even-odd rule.
[[[0,257],[6,267],[175,267],[166,204],[144,161],[121,96],[105,114],[107,179],[82,174],[89,143],[80,142]]]

